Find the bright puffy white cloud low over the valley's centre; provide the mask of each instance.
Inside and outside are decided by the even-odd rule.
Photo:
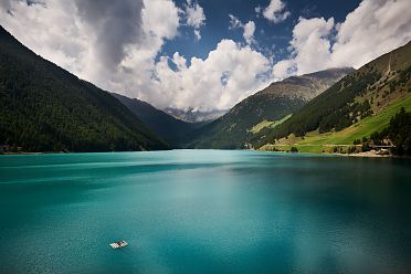
[[[177,70],[168,63],[173,62]],[[226,109],[267,84],[270,61],[250,46],[222,40],[207,59],[192,57],[190,64],[179,53],[156,64],[152,93],[160,105],[196,106],[202,110]]]

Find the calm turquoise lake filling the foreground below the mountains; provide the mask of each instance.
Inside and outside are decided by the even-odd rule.
[[[410,272],[407,159],[0,156],[0,273]]]

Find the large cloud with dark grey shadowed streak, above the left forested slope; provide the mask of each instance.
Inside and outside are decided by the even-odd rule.
[[[170,0],[43,2],[9,1],[12,15],[1,8],[0,23],[38,54],[104,88],[134,65],[149,67],[178,33],[179,10]]]

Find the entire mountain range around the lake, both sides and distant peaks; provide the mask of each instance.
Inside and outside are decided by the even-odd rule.
[[[77,78],[0,27],[0,146],[23,151],[253,147],[323,152],[369,145],[371,136],[372,144],[391,138],[403,145],[411,139],[398,130],[400,124],[408,128],[410,67],[408,43],[359,70],[329,68],[272,83],[228,112],[161,110]]]

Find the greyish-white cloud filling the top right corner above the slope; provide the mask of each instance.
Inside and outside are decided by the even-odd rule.
[[[359,67],[411,40],[409,0],[365,0],[338,28],[331,63]]]

